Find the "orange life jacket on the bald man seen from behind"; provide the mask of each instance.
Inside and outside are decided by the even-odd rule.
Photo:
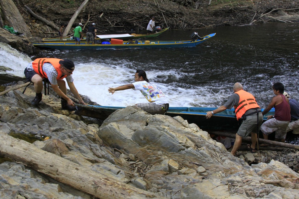
[[[260,108],[252,94],[244,90],[239,90],[235,93],[240,97],[239,103],[234,106],[237,120],[239,120],[247,110],[251,108]]]

